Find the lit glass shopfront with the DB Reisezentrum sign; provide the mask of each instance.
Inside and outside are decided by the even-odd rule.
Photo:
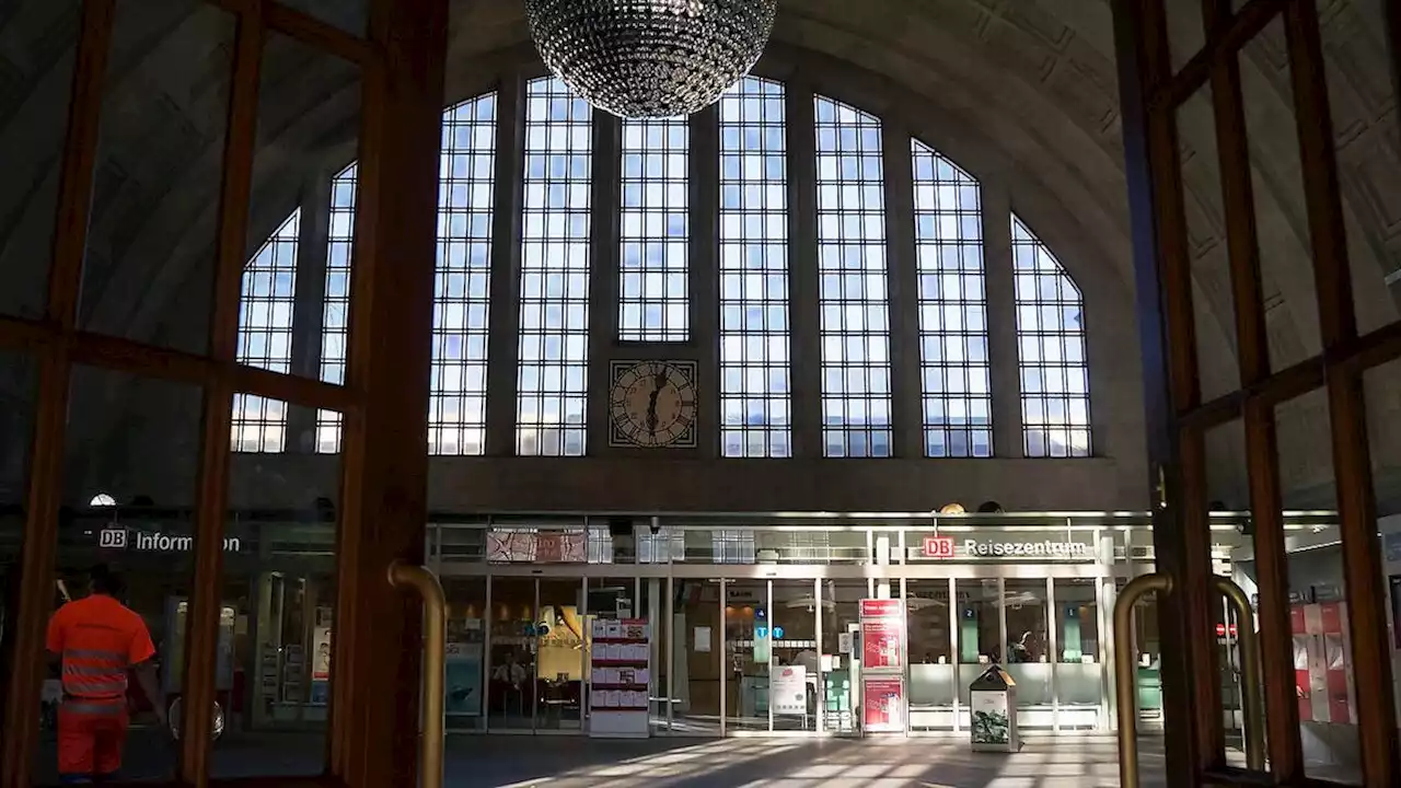
[[[862,735],[869,597],[905,602],[909,735],[965,735],[968,684],[995,662],[1017,681],[1023,729],[1112,729],[1108,610],[1153,568],[1146,517],[706,519],[430,526],[453,617],[450,729],[587,732],[590,620],[604,614],[651,624],[654,735]],[[1213,527],[1229,566],[1238,530]],[[1145,719],[1159,716],[1154,667],[1140,670],[1140,695],[1157,700]]]

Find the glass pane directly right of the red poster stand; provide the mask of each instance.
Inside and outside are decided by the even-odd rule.
[[[957,691],[948,580],[906,580],[909,631],[909,728],[951,731]]]

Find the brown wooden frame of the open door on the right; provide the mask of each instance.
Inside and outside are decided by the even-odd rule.
[[[1358,335],[1316,3],[1250,0],[1233,11],[1224,0],[1201,0],[1205,45],[1175,72],[1163,0],[1112,0],[1112,10],[1150,467],[1159,491],[1154,544],[1159,569],[1175,582],[1174,593],[1164,600],[1173,624],[1163,632],[1168,782],[1240,784],[1262,778],[1288,785],[1310,782],[1293,690],[1275,408],[1324,388],[1332,425],[1362,773],[1367,785],[1395,785],[1401,770],[1362,374],[1401,358],[1401,324]],[[1283,20],[1293,77],[1324,353],[1271,372],[1238,57],[1244,45],[1278,18]],[[1401,94],[1401,10],[1393,8],[1388,35],[1393,76]],[[1203,402],[1177,109],[1208,86],[1220,156],[1241,388]],[[1226,764],[1216,681],[1199,680],[1217,674],[1215,653],[1205,648],[1209,638],[1202,635],[1213,624],[1212,614],[1201,604],[1210,576],[1209,564],[1203,566],[1199,555],[1206,544],[1201,529],[1208,506],[1203,444],[1208,430],[1236,419],[1245,429],[1255,524],[1269,777]]]

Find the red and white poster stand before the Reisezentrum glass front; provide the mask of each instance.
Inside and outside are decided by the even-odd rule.
[[[905,603],[863,599],[862,732],[905,732]]]

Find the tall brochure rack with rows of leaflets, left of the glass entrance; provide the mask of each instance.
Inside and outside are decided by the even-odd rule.
[[[642,618],[594,618],[588,735],[646,739],[650,728],[650,627]]]

